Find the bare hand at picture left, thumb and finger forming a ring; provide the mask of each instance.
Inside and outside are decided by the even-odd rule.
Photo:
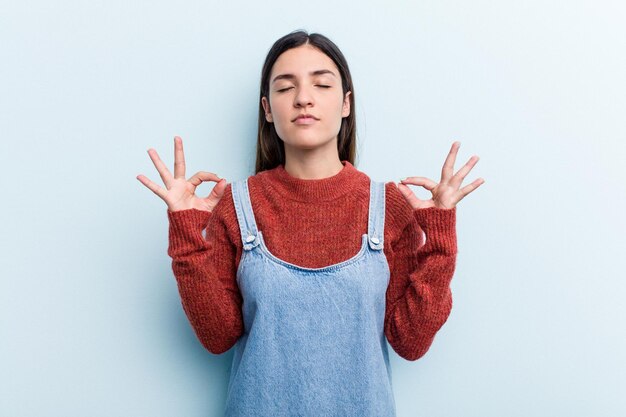
[[[161,179],[167,189],[164,189],[158,184],[150,181],[144,175],[138,175],[137,179],[143,185],[152,190],[156,195],[161,197],[167,204],[169,211],[195,208],[211,212],[224,195],[224,190],[227,185],[226,180],[218,177],[212,172],[200,171],[193,177],[189,178],[189,180],[185,179],[185,155],[183,153],[183,140],[180,137],[174,137],[173,177],[154,149],[148,149],[148,155],[150,155],[150,159],[152,159],[154,166],[157,171],[159,171],[159,175],[161,176]],[[213,190],[211,190],[208,197],[198,198],[195,195],[196,187],[202,184],[203,181],[215,181],[217,182],[217,185],[213,187]]]

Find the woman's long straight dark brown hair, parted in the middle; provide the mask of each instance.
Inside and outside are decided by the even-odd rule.
[[[352,76],[345,57],[330,39],[319,33],[307,33],[304,30],[296,30],[274,42],[274,45],[267,53],[263,69],[261,71],[261,88],[259,94],[259,130],[257,135],[257,153],[255,174],[261,171],[272,169],[278,165],[285,164],[285,144],[276,133],[274,123],[265,120],[265,111],[261,98],[267,97],[269,100],[269,82],[272,67],[278,57],[285,51],[296,48],[298,46],[309,44],[319,49],[333,60],[339,74],[341,74],[341,85],[343,89],[343,97],[351,91],[348,96],[350,100],[350,114],[341,120],[341,128],[337,135],[337,150],[339,151],[339,159],[347,160],[352,165],[355,164],[356,158],[356,112],[354,106],[354,86],[352,85]]]

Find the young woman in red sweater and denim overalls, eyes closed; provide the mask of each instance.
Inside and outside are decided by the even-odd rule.
[[[296,31],[263,66],[255,175],[186,180],[179,137],[174,176],[148,150],[166,189],[137,179],[168,206],[185,313],[210,352],[235,346],[227,416],[394,416],[386,341],[416,360],[450,314],[456,204],[483,180],[459,187],[478,157],[453,174],[455,142],[439,183],[377,182],[354,166],[355,129],[343,54]],[[217,183],[206,198],[203,181]]]

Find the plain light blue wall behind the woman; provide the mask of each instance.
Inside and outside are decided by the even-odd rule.
[[[357,167],[483,184],[458,205],[454,307],[392,352],[399,416],[626,415],[626,6],[619,1],[44,2],[0,8],[0,414],[218,416],[161,180],[252,174],[261,65],[294,29],[342,49]],[[213,184],[203,184],[206,195]],[[418,196],[430,197],[413,188]]]

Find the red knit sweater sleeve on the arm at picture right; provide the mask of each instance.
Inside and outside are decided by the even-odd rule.
[[[394,242],[385,335],[404,359],[424,356],[450,315],[450,281],[457,254],[455,223],[456,207],[414,209]]]

